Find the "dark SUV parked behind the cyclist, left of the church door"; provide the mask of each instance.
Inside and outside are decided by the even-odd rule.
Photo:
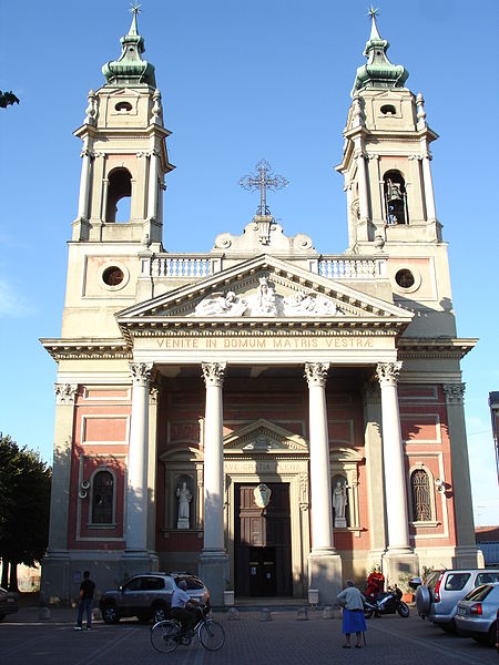
[[[154,622],[166,618],[172,594],[181,580],[187,584],[187,594],[206,604],[210,592],[203,582],[190,573],[145,573],[135,575],[116,591],[106,591],[99,601],[105,623],[118,623],[124,616]]]

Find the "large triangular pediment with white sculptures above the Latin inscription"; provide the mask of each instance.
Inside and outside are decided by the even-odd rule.
[[[413,315],[391,303],[312,273],[273,256],[262,255],[179,287],[118,315],[121,326],[155,325],[182,319],[190,326],[248,320],[398,323]]]

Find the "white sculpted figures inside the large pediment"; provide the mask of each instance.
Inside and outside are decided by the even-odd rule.
[[[320,294],[296,291],[287,297],[276,294],[267,277],[258,279],[256,293],[236,295],[214,291],[195,307],[195,316],[342,316],[336,304]]]

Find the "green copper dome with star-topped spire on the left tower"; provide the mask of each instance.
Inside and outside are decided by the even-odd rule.
[[[139,34],[136,28],[138,11],[138,7],[133,8],[133,19],[129,33],[120,40],[122,45],[120,59],[106,62],[102,68],[105,82],[112,85],[145,83],[152,88],[156,86],[154,65],[142,60],[145,48],[144,39]]]

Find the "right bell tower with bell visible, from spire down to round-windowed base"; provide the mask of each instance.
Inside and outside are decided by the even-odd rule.
[[[438,135],[427,124],[421,93],[405,86],[408,71],[388,59],[376,10],[369,14],[367,63],[357,69],[336,166],[347,194],[347,252],[388,258],[394,300],[418,315],[407,335],[430,337],[434,327],[440,336],[454,336],[447,244],[430,166],[430,144]]]

